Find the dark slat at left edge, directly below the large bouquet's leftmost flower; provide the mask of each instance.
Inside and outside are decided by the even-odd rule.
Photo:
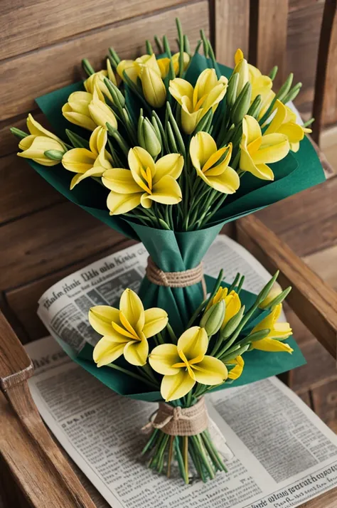
[[[0,181],[0,224],[64,201],[61,194],[16,154],[1,159]]]

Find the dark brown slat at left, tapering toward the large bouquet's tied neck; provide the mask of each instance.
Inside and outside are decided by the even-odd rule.
[[[60,203],[2,226],[1,288],[16,287],[89,258],[123,236],[73,203]]]

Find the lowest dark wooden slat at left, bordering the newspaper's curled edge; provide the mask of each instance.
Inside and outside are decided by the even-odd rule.
[[[9,305],[11,311],[14,312],[15,316],[18,318],[18,321],[29,339],[40,339],[41,337],[46,337],[48,334],[46,328],[43,326],[41,320],[36,314],[38,300],[41,295],[43,295],[43,292],[48,290],[48,288],[55,284],[55,282],[58,282],[59,280],[62,280],[63,277],[70,275],[70,273],[76,272],[77,270],[80,270],[80,268],[83,268],[98,259],[104,258],[106,255],[112,254],[117,250],[127,248],[129,245],[134,243],[133,240],[127,240],[126,238],[121,238],[120,236],[118,236],[116,240],[118,241],[114,243],[114,238],[112,236],[112,245],[109,246],[107,250],[95,253],[94,255],[91,255],[90,258],[80,260],[78,263],[75,263],[75,265],[62,268],[57,272],[46,275],[46,277],[42,277],[41,279],[29,282],[27,285],[23,285],[6,292],[5,296],[7,305]],[[21,342],[26,342],[26,337],[19,337]]]

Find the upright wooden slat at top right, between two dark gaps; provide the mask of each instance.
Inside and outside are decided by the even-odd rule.
[[[288,0],[250,0],[250,63],[263,74],[278,65],[276,87],[285,75],[287,23]]]

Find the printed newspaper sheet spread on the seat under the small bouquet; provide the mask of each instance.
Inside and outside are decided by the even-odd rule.
[[[87,322],[92,305],[115,305],[125,287],[136,290],[147,253],[137,244],[103,258],[50,287],[38,314],[50,334],[79,351],[99,337]],[[219,236],[205,272],[225,267],[231,281],[245,273],[258,292],[270,277],[241,245]],[[151,403],[117,396],[74,364],[50,337],[28,344],[36,375],[31,391],[43,419],[90,482],[114,508],[293,508],[337,485],[337,437],[278,379],[230,388],[208,397],[213,432],[232,450],[228,474],[183,485],[144,467],[139,428]],[[219,436],[218,436],[219,437]],[[221,448],[223,446],[223,448]],[[336,494],[337,495],[337,494]],[[97,502],[97,501],[96,501]],[[102,504],[104,503],[104,504]],[[100,499],[97,507],[107,505]]]

